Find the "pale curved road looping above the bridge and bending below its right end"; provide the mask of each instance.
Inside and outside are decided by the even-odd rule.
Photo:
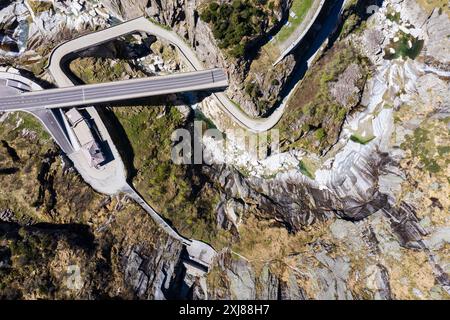
[[[136,18],[112,26],[110,28],[82,35],[57,46],[49,58],[48,69],[59,86],[72,86],[72,81],[62,70],[62,64],[74,52],[83,51],[117,37],[133,32],[145,32],[160,37],[178,48],[181,57],[192,71],[204,70],[194,50],[175,32],[166,30],[144,17]],[[273,128],[281,119],[284,104],[267,118],[252,118],[237,107],[224,93],[214,93],[213,97],[219,107],[245,129],[253,132],[264,132]]]

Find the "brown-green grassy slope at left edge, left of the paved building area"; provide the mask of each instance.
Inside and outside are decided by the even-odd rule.
[[[94,199],[78,175],[63,175],[58,149],[43,130],[27,113],[10,114],[0,126],[0,211],[13,210],[23,223],[48,221],[55,212],[59,219],[67,211],[81,216]]]

